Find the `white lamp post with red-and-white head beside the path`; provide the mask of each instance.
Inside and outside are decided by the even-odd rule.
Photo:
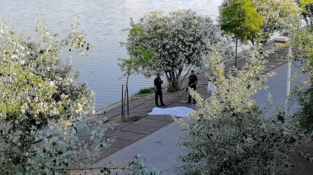
[[[274,39],[275,44],[285,44],[288,42],[289,38],[284,37],[284,36],[279,36]],[[288,115],[288,103],[290,100],[290,74],[291,74],[291,61],[290,61],[290,56],[291,56],[291,46],[289,46],[288,49],[288,64],[287,64],[287,93],[286,93],[286,103],[285,103],[285,114]]]

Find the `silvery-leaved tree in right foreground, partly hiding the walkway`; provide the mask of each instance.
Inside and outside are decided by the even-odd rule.
[[[194,91],[198,109],[187,122],[177,120],[186,136],[181,145],[187,150],[180,156],[183,165],[177,169],[178,174],[284,174],[281,166],[295,166],[288,153],[296,151],[304,156],[297,145],[307,138],[294,118],[282,123],[276,117],[264,116],[250,99],[268,88],[264,83],[275,73],[259,74],[267,61],[254,48],[249,50],[243,68],[231,69],[225,76],[224,65],[219,64],[223,47],[211,47],[213,57],[208,64],[217,80],[213,96],[203,100]]]

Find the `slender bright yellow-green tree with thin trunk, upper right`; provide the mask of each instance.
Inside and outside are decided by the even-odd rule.
[[[256,4],[251,0],[235,0],[220,11],[219,26],[226,34],[233,36],[236,42],[235,68],[237,68],[238,40],[244,44],[254,43],[259,38],[260,25],[263,19],[255,9]]]

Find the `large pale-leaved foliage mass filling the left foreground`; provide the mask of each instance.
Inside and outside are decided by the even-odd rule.
[[[76,31],[78,25],[72,25],[65,39],[57,39],[40,19],[38,39],[31,39],[0,20],[0,173],[160,173],[149,171],[139,156],[124,167],[91,166],[110,147],[111,139],[104,139],[110,126],[105,118],[91,126],[86,121],[85,114],[94,110],[95,93],[76,82],[81,72],[59,55],[65,47],[81,55],[91,48],[85,33]]]

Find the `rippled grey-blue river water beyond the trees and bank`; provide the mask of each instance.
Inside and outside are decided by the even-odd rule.
[[[80,13],[81,26],[85,39],[94,44],[89,57],[63,53],[66,59],[72,56],[72,62],[84,73],[79,82],[88,82],[96,93],[96,109],[121,99],[121,85],[126,78],[117,65],[118,58],[128,58],[125,48],[119,42],[126,41],[127,33],[122,29],[129,27],[130,17],[138,22],[143,13],[150,9],[164,9],[166,13],[178,7],[192,9],[200,15],[208,15],[213,20],[218,15],[218,6],[222,0],[1,0],[0,16],[11,20],[11,26],[20,29],[25,35],[36,36],[35,21],[39,18],[37,7],[43,14],[51,30],[64,37],[74,23],[74,14]],[[163,77],[163,79],[165,79]],[[129,93],[153,86],[153,78],[132,75],[129,79]]]

